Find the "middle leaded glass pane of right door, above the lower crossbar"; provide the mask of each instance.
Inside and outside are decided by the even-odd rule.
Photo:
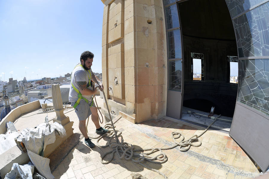
[[[233,20],[239,58],[269,56],[269,2]]]

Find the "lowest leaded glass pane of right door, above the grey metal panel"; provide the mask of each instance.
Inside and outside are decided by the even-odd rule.
[[[269,59],[239,60],[238,101],[269,116]]]

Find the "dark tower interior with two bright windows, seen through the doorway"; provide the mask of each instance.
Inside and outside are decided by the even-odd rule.
[[[184,48],[183,106],[233,117],[238,58],[231,17],[224,0],[178,4]]]

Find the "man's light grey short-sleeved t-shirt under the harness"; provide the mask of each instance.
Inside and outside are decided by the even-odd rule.
[[[91,71],[91,69],[89,71]],[[91,74],[92,74],[92,71],[91,73],[88,73],[88,71],[86,71],[82,66],[77,66],[72,71],[71,82],[75,86],[75,88],[77,88],[77,90],[80,91],[80,88],[78,87],[77,82],[85,81],[88,86],[89,77],[91,79],[91,76],[90,76]],[[78,93],[74,90],[72,84],[70,84],[70,90],[69,90],[69,102],[71,103],[76,102],[78,100],[78,97],[77,97]],[[92,90],[91,86],[89,86],[88,89]],[[92,100],[91,95],[82,95],[82,97],[86,98],[89,102]]]

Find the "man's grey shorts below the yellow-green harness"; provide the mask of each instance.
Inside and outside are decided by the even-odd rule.
[[[75,108],[75,112],[79,120],[86,120],[91,115],[90,105],[92,102],[93,101],[89,101],[88,103],[86,103],[85,100],[83,99],[80,100],[80,103]],[[74,104],[75,102],[72,102],[71,106],[74,106]],[[91,107],[96,107],[94,102]]]

